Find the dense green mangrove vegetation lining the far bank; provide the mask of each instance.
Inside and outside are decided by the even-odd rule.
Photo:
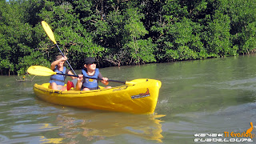
[[[256,46],[254,0],[0,0],[0,74],[50,66],[58,48],[71,66],[234,56]]]

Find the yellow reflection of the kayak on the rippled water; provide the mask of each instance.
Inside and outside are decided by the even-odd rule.
[[[162,125],[159,118],[164,115],[137,115],[122,113],[69,113],[59,114],[58,125],[61,136],[67,139],[78,137],[86,141],[100,140],[123,134],[162,142]],[[85,139],[83,139],[84,141]]]

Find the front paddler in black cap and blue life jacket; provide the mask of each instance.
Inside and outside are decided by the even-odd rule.
[[[108,78],[103,78],[98,68],[96,68],[96,61],[94,58],[86,58],[84,67],[85,68],[82,70],[82,74],[78,74],[79,78],[76,85],[77,90],[98,90],[98,80],[91,78],[101,78],[101,82],[104,85],[109,84],[109,82],[107,82]],[[83,76],[89,78],[83,78]],[[110,88],[110,86],[107,86],[106,88]]]

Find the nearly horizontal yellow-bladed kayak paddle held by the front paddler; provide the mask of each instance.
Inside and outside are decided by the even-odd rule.
[[[78,75],[57,73],[57,72],[54,72],[54,70],[51,70],[45,66],[30,66],[27,69],[27,72],[29,74],[34,74],[34,75],[39,75],[39,76],[50,76],[53,74],[60,74],[60,75],[66,75],[66,76],[78,78]],[[89,77],[84,77],[84,78],[89,78]],[[90,79],[97,79],[97,80],[102,81],[102,78],[90,78]],[[130,85],[134,85],[136,83],[136,82],[117,81],[117,80],[110,80],[110,79],[108,80],[108,82],[118,82],[118,83],[123,83],[123,84],[130,84]]]

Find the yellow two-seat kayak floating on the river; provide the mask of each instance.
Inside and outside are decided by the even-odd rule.
[[[79,91],[51,90],[49,83],[34,84],[34,94],[46,102],[95,110],[133,114],[153,114],[162,83],[154,79],[134,79],[133,85]]]

